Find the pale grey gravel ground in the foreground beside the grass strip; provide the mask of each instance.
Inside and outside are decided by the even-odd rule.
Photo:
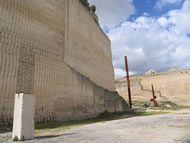
[[[1,141],[0,141],[1,142]],[[109,121],[41,136],[26,143],[190,143],[190,114]]]

